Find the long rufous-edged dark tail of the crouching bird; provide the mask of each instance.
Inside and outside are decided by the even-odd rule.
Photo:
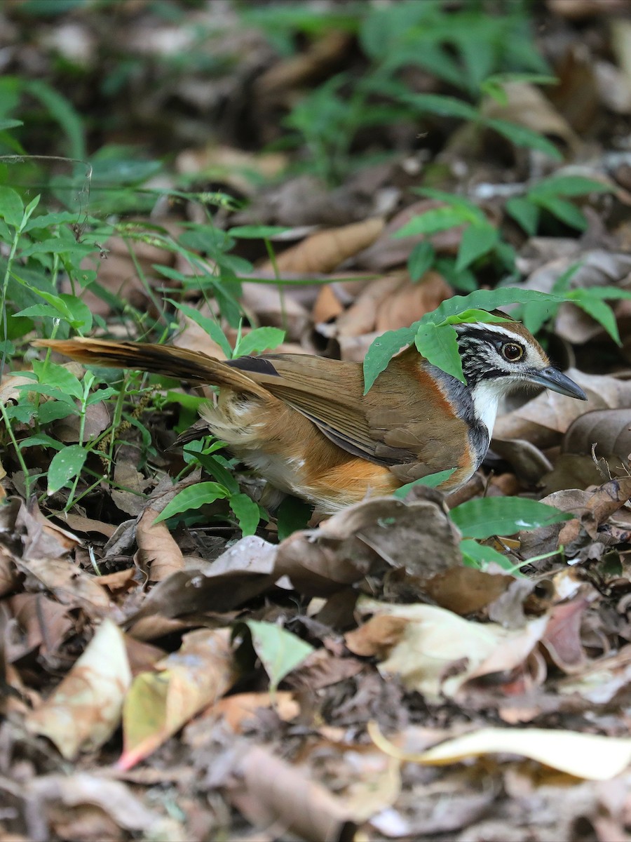
[[[142,342],[109,342],[106,339],[37,339],[36,348],[52,348],[71,360],[87,365],[151,371],[178,380],[229,386],[237,392],[249,392],[269,398],[270,393],[244,372],[225,365],[200,351]]]

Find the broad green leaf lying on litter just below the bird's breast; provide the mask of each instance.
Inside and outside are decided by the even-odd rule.
[[[449,516],[466,538],[514,535],[519,530],[571,520],[574,515],[522,497],[485,497],[451,509]]]

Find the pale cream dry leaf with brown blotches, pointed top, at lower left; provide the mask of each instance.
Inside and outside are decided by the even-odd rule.
[[[130,684],[123,632],[104,620],[66,678],[29,713],[25,725],[52,740],[63,757],[74,759],[112,736]]]

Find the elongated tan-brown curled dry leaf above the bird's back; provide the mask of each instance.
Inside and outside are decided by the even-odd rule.
[[[363,222],[353,222],[340,228],[328,228],[311,234],[297,246],[279,254],[276,264],[281,274],[312,274],[331,272],[363,248],[367,248],[383,231],[384,220],[377,216]],[[262,269],[273,269],[270,263]]]

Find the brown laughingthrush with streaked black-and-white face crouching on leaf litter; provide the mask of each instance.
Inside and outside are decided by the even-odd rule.
[[[455,327],[466,384],[411,346],[390,360],[366,395],[360,364],[308,354],[220,362],[156,344],[89,338],[34,344],[82,363],[220,386],[216,405],[201,413],[209,432],[273,487],[331,514],[449,468],[456,470],[440,488],[459,488],[485,457],[498,402],[518,386],[586,400],[519,322]]]

